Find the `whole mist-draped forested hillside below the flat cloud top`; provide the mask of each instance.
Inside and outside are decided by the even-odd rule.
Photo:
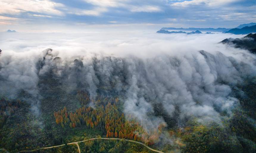
[[[198,51],[197,62],[204,60],[207,73],[216,75],[209,84],[198,77],[206,75],[204,64],[192,63],[191,80],[180,77],[189,57],[93,57],[86,63],[63,60],[51,49],[44,53],[35,64],[38,81],[22,89],[6,77],[8,62],[1,63],[1,148],[18,152],[104,137],[136,140],[166,153],[256,152],[256,77],[249,64]],[[214,64],[221,62],[225,65]],[[93,140],[80,149],[151,152],[121,140]],[[36,152],[77,152],[77,147]]]

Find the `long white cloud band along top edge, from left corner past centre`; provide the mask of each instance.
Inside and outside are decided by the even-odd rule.
[[[110,7],[124,8],[131,12],[159,12],[160,7],[153,5],[134,5],[131,0],[83,0],[94,5],[93,9],[85,10],[65,6],[51,0],[2,0],[0,14],[20,15],[51,18],[52,15],[63,16],[67,14],[99,16],[108,12]],[[58,9],[66,10],[62,12]]]

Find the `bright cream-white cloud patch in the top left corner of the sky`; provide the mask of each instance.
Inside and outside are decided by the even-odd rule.
[[[24,12],[36,12],[48,15],[63,15],[57,7],[63,4],[49,0],[1,0],[0,14],[18,15]]]

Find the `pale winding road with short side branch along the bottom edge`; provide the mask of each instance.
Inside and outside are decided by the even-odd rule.
[[[85,142],[85,141],[90,141],[90,140],[96,140],[96,139],[104,139],[104,140],[121,140],[121,138],[91,138],[91,139],[87,139],[87,140],[82,140],[82,141],[77,141],[77,142],[67,143],[67,145],[70,145],[70,144],[76,144],[76,145],[77,145],[77,148],[78,148],[79,153],[81,153],[81,152],[80,152],[80,148],[79,148],[78,143],[80,143],[80,142]],[[152,151],[154,151],[154,152],[164,153],[164,152],[161,152],[161,151],[158,151],[158,150],[152,149],[152,148],[150,148],[149,146],[147,146],[146,144],[141,143],[141,142],[138,142],[138,141],[128,140],[128,139],[124,139],[124,140],[129,141],[129,142],[134,142],[134,143],[142,144],[143,146],[145,146],[146,148],[148,148],[148,149],[150,149],[150,150],[152,150]],[[39,148],[39,149],[34,149],[34,150],[22,150],[22,151],[20,151],[20,152],[34,152],[34,151],[41,150],[41,149],[56,148],[56,147],[60,147],[60,146],[65,146],[65,144],[61,144],[61,145],[58,145],[58,146],[44,147],[44,148]],[[19,153],[19,152],[17,152],[17,153]]]

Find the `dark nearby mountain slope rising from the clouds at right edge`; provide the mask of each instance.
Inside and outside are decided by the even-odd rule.
[[[256,53],[256,34],[250,33],[245,37],[239,38],[228,38],[222,40],[220,43],[229,44],[232,43],[235,45],[235,48],[248,49],[252,53]]]

